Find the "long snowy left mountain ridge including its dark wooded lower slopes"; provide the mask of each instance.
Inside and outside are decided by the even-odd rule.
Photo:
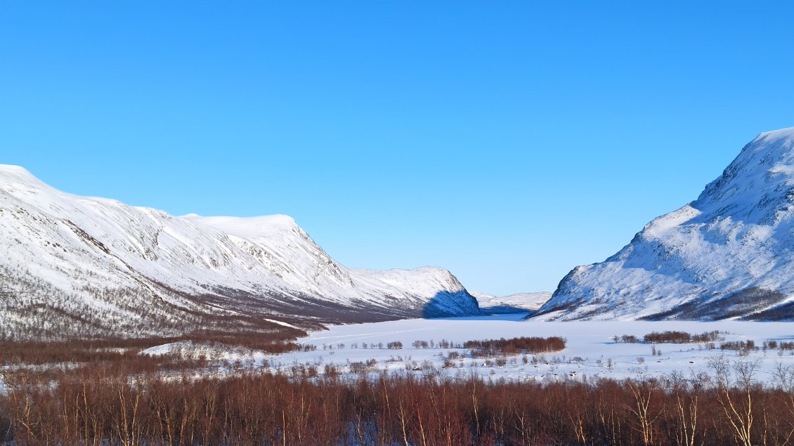
[[[13,291],[0,299],[0,325],[16,337],[172,334],[210,316],[351,322],[480,313],[449,271],[351,271],[291,217],[174,217],[65,194],[3,165],[0,289]]]

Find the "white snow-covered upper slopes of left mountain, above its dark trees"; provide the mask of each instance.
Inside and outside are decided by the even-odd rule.
[[[295,313],[300,312],[296,299],[347,308],[361,317],[371,308],[393,317],[421,315],[436,301],[447,315],[479,313],[449,271],[420,268],[380,276],[351,271],[291,217],[174,217],[67,194],[8,165],[0,165],[0,267],[42,280],[94,314],[110,311],[119,317],[122,304],[150,306],[155,298],[185,308],[199,305],[182,294],[221,296],[233,303],[227,310],[246,308],[237,296],[248,294],[286,302]],[[118,290],[148,298],[91,297]],[[0,314],[0,321],[10,317]]]

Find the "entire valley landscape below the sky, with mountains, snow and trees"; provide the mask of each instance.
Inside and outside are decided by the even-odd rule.
[[[0,441],[788,444],[792,163],[762,133],[615,256],[501,297],[0,165]]]

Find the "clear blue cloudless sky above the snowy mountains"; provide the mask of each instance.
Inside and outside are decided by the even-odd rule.
[[[2,2],[0,163],[554,290],[794,125],[792,2]]]

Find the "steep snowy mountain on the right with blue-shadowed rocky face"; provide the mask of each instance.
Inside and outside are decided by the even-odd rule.
[[[792,318],[792,217],[794,128],[762,133],[696,201],[569,272],[538,318]]]

